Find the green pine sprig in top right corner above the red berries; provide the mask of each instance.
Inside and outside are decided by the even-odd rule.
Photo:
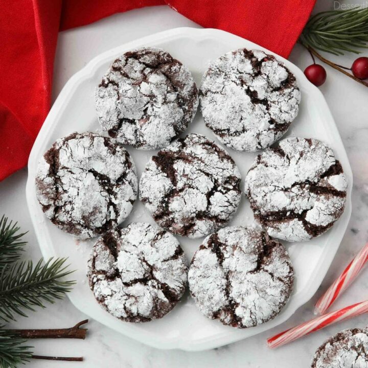
[[[359,54],[368,48],[368,8],[332,10],[313,15],[305,26],[300,42],[307,48],[343,55]]]

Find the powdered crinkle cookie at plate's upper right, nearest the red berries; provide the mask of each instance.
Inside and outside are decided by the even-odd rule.
[[[204,122],[220,142],[257,151],[286,132],[301,93],[295,76],[273,55],[239,49],[210,65],[199,98]]]

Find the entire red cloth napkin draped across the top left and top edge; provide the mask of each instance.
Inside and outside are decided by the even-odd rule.
[[[165,3],[287,57],[315,0],[0,0],[0,180],[27,164],[49,112],[58,31]]]

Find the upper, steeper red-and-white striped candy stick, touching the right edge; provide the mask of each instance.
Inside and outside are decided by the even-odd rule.
[[[368,261],[368,243],[366,243],[346,269],[339,275],[315,305],[315,313],[323,314],[344,290],[354,281],[360,270]]]

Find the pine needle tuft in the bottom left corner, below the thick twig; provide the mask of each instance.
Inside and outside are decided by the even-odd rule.
[[[27,340],[13,337],[7,331],[0,330],[0,367],[17,368],[19,364],[29,361],[32,357],[30,349],[24,345]]]

